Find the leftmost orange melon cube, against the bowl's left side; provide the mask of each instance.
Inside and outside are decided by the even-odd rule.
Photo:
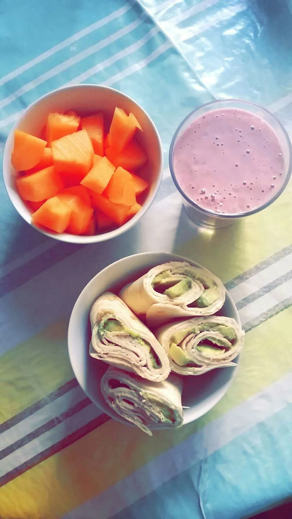
[[[47,141],[38,139],[24,131],[15,130],[14,148],[11,154],[11,164],[17,171],[23,171],[36,166],[44,154]]]

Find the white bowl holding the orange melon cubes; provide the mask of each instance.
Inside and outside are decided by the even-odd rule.
[[[22,216],[25,222],[32,225],[31,213],[16,190],[15,181],[17,172],[11,165],[14,131],[18,129],[39,136],[46,124],[49,112],[75,110],[79,114],[88,114],[102,111],[110,116],[113,115],[116,106],[123,108],[126,112],[132,112],[143,128],[143,133],[141,132],[141,135],[139,135],[139,140],[149,157],[147,166],[145,166],[145,173],[147,173],[145,178],[147,178],[150,183],[150,189],[144,200],[142,209],[121,227],[109,233],[95,236],[50,233],[33,225],[35,229],[46,236],[70,243],[96,243],[114,238],[135,225],[151,206],[161,183],[163,150],[160,136],[154,122],[138,103],[118,90],[100,85],[73,85],[49,92],[25,110],[22,117],[20,117],[19,121],[9,133],[3,155],[4,184],[8,196],[20,216]]]

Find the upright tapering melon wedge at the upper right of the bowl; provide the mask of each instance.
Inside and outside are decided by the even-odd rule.
[[[142,130],[135,115],[130,113],[128,116],[122,108],[116,107],[109,132],[109,145],[121,152],[134,137],[137,128]]]

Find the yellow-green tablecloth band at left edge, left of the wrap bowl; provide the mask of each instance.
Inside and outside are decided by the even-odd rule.
[[[74,377],[67,327],[67,321],[59,321],[1,357],[1,423]]]

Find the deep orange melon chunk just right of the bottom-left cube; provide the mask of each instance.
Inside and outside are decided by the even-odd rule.
[[[94,210],[84,203],[81,198],[72,193],[59,193],[58,198],[66,203],[71,210],[70,221],[66,228],[68,233],[83,234],[87,229]]]

